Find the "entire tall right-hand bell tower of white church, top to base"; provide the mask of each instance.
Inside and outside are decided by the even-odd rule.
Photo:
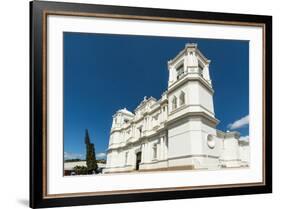
[[[168,124],[171,124],[168,158],[171,165],[183,161],[194,168],[218,165],[220,145],[216,143],[216,126],[219,121],[214,112],[210,63],[194,43],[186,44],[168,61]],[[210,140],[214,146],[208,145]],[[180,156],[186,159],[180,162],[177,160]]]

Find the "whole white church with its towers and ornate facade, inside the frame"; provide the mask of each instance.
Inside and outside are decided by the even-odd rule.
[[[113,115],[104,173],[249,166],[250,148],[238,132],[216,129],[210,60],[185,48],[168,61],[168,89],[134,113]]]

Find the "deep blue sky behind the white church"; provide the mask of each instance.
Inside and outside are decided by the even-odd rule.
[[[64,152],[84,158],[87,128],[98,158],[106,152],[112,115],[133,111],[144,96],[167,89],[167,61],[186,43],[211,60],[218,129],[248,136],[248,41],[64,33]]]

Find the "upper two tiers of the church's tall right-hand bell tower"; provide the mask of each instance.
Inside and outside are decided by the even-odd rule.
[[[180,98],[184,95],[185,104],[192,105],[194,111],[203,111],[214,117],[210,63],[194,43],[186,44],[174,59],[168,61],[168,93],[169,98],[174,100],[170,102],[170,112],[182,105]]]

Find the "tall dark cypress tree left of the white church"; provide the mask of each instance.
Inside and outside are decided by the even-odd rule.
[[[87,169],[88,169],[88,173],[92,174],[93,171],[97,170],[98,165],[97,165],[97,161],[96,161],[95,146],[93,143],[91,143],[88,129],[86,129],[85,144],[86,144]]]

